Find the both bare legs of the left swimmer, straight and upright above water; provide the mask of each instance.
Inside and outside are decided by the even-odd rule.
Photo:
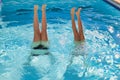
[[[34,39],[33,42],[48,41],[46,23],[46,5],[42,5],[42,30],[39,29],[38,5],[34,5]]]

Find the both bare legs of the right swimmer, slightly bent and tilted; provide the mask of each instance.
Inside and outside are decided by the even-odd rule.
[[[78,11],[76,12],[76,16],[77,16],[77,19],[78,19],[78,30],[77,30],[75,20],[74,20],[75,8],[71,9],[72,30],[73,30],[73,33],[74,33],[74,40],[75,41],[85,40],[84,33],[83,33],[82,22],[81,22],[81,19],[80,19],[80,11],[81,11],[81,8],[79,8]]]

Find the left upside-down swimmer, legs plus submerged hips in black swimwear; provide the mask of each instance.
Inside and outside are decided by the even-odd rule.
[[[46,5],[42,5],[42,30],[39,29],[38,5],[34,5],[34,38],[32,44],[32,55],[48,54],[48,36],[46,23]]]

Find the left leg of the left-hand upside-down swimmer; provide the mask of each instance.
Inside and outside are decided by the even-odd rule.
[[[39,21],[38,21],[38,5],[34,6],[34,39],[33,42],[38,42],[41,40]]]

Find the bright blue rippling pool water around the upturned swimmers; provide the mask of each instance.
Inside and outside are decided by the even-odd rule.
[[[29,60],[34,4],[47,4],[51,54]],[[0,80],[120,80],[117,9],[102,0],[3,0],[0,5]],[[73,40],[72,7],[83,8],[86,40],[78,45]]]

